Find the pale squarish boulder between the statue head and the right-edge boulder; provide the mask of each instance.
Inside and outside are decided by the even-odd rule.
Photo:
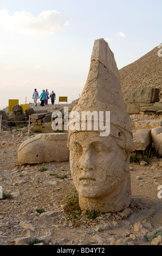
[[[140,129],[133,132],[133,143],[135,150],[145,150],[146,147],[152,142],[151,130]]]

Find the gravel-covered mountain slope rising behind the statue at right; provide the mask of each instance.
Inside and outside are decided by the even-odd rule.
[[[162,98],[162,57],[155,47],[140,59],[120,69],[121,89],[124,98],[131,90],[151,86],[160,88]]]

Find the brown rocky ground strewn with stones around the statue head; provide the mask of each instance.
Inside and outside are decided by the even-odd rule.
[[[147,166],[130,163],[129,208],[93,218],[95,212],[76,211],[69,162],[18,164],[18,147],[31,136],[28,127],[0,133],[0,185],[12,194],[0,200],[1,245],[27,245],[31,238],[38,245],[162,245],[162,159],[154,157]]]

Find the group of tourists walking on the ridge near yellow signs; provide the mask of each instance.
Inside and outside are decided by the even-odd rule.
[[[49,92],[48,89],[42,90],[41,95],[38,95],[38,92],[36,89],[34,89],[34,93],[33,93],[33,99],[34,99],[34,106],[37,106],[37,99],[41,100],[41,104],[40,106],[44,106],[44,105],[48,105],[48,100],[50,98],[51,100],[51,104],[54,105],[55,99],[56,99],[56,95],[54,93],[54,91],[51,92],[50,96],[49,96]]]

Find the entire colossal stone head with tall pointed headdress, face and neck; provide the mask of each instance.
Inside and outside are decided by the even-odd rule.
[[[125,209],[131,200],[131,119],[126,113],[114,54],[103,39],[94,42],[87,82],[73,111],[110,112],[110,133],[106,136],[101,136],[100,126],[98,130],[71,130],[72,118],[69,119],[70,169],[81,209],[101,212]],[[93,124],[96,122],[98,119],[94,118]]]

